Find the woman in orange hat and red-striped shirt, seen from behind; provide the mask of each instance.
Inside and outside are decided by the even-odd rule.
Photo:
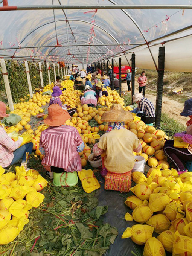
[[[40,151],[45,155],[42,165],[48,171],[49,178],[53,178],[53,172],[81,171],[78,152],[83,150],[84,142],[76,128],[66,125],[69,118],[69,113],[58,104],[49,106],[44,123],[50,127],[40,136]]]

